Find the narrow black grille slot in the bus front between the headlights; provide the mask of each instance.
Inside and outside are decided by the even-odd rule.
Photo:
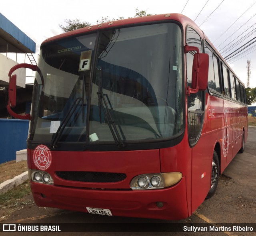
[[[56,175],[61,179],[91,182],[91,183],[114,183],[126,178],[122,173],[104,173],[104,172],[87,172],[87,171],[56,171]]]

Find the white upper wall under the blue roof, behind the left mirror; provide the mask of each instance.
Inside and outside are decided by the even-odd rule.
[[[10,69],[17,65],[18,63],[16,61],[13,61],[12,59],[0,54],[0,84],[1,81],[3,81],[5,84],[9,83],[9,77],[8,73]],[[13,74],[17,75],[17,86],[25,88],[26,86],[26,69],[20,68],[16,71],[14,71]]]

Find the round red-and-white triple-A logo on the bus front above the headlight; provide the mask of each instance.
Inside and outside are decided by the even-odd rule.
[[[38,169],[48,169],[52,163],[50,149],[44,145],[38,145],[33,154],[33,161]]]

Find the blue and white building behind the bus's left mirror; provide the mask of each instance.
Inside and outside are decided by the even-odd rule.
[[[6,105],[8,103],[8,73],[20,63],[36,64],[32,53],[36,51],[36,43],[10,20],[0,13],[0,163],[16,159],[16,151],[26,148],[28,136],[27,120],[10,119]],[[25,113],[31,104],[32,85],[26,85],[26,69],[15,71],[17,74],[17,100],[18,113]],[[30,110],[28,111],[30,112]]]

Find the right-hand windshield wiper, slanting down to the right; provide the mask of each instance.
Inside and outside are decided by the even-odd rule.
[[[118,146],[119,148],[125,147],[125,145],[124,145],[124,143],[123,143],[123,141],[122,141],[122,139],[121,139],[121,137],[120,137],[120,135],[118,133],[118,130],[116,128],[116,124],[114,122],[114,119],[112,118],[112,116],[110,114],[110,111],[109,111],[109,108],[108,108],[108,104],[106,102],[106,99],[104,98],[103,92],[102,91],[101,92],[97,92],[97,95],[98,95],[99,102],[100,102],[100,105],[102,107],[102,110],[103,110],[103,112],[105,114],[105,118],[106,118],[106,121],[108,123],[108,127],[109,127],[110,132],[111,132],[111,134],[112,134],[112,136],[114,138],[114,141],[116,143],[116,146]],[[104,102],[104,105],[106,106],[106,110],[104,109],[102,100]]]

